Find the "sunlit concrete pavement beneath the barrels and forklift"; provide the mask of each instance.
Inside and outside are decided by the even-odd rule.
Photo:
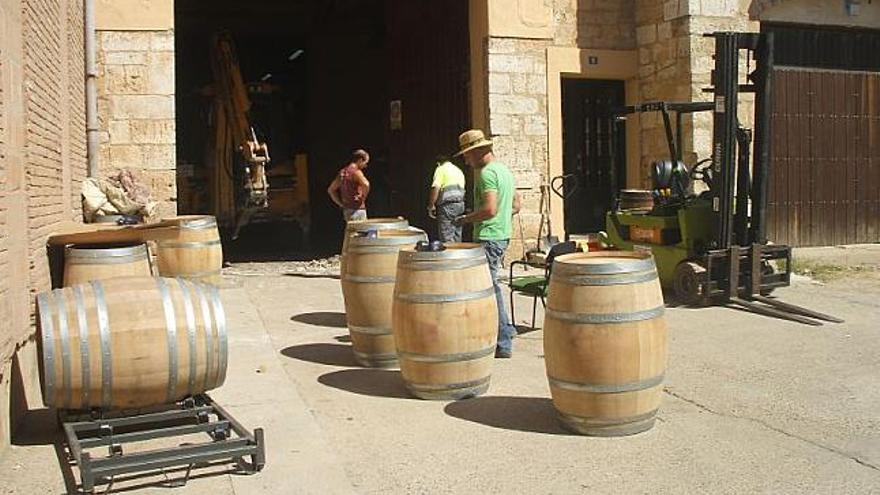
[[[227,282],[229,373],[212,395],[266,428],[268,465],[136,493],[880,492],[875,279],[799,278],[779,291],[842,325],[670,308],[660,421],[616,439],[559,427],[540,330],[496,361],[486,396],[426,402],[406,395],[398,372],[355,365],[338,280],[267,265]],[[16,447],[0,472],[0,493],[64,493],[51,445]]]

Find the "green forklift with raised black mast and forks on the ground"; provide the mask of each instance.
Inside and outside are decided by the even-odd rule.
[[[718,32],[710,102],[650,102],[614,110],[614,118],[662,115],[668,159],[652,167],[653,207],[606,216],[606,241],[654,254],[661,285],[687,305],[733,304],[809,325],[842,320],[768,297],[791,281],[791,248],[766,237],[771,164],[772,34]],[[746,56],[755,70],[742,77]],[[751,69],[751,67],[749,67]],[[754,131],[740,122],[740,94],[753,93]],[[712,156],[688,168],[682,159],[683,117],[713,113]],[[617,125],[612,126],[617,132]],[[694,191],[700,192],[694,192]]]

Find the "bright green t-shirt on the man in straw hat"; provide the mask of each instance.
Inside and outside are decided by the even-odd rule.
[[[474,239],[478,241],[503,241],[510,239],[513,232],[513,174],[501,162],[493,161],[480,170],[480,177],[474,188],[474,204],[479,209],[483,205],[483,194],[495,191],[498,211],[493,218],[474,225]]]

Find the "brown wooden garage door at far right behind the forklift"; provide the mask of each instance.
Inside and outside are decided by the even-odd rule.
[[[880,241],[880,73],[781,67],[775,74],[769,239]]]

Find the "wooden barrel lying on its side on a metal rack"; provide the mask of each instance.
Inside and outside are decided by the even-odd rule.
[[[226,318],[213,286],[95,280],[39,294],[36,312],[47,406],[148,407],[226,379]]]

